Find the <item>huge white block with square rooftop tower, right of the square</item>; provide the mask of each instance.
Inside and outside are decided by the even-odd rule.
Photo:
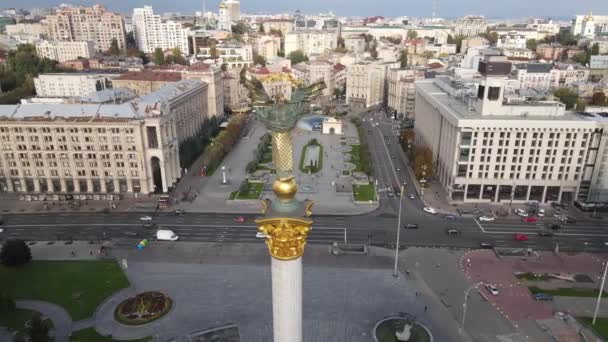
[[[510,71],[504,57],[481,62],[476,96],[448,77],[416,82],[416,142],[451,201],[570,202],[591,178],[597,123],[559,102],[505,98]]]

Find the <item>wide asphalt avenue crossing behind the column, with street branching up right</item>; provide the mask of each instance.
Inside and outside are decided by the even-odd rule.
[[[373,125],[370,122],[373,117]],[[389,197],[383,191],[393,184],[406,182],[405,194],[412,183],[406,172],[407,159],[401,151],[391,119],[384,114],[368,115],[364,121],[364,132],[372,154],[374,176],[380,189],[380,207],[373,213],[355,216],[314,216],[313,230],[308,242],[331,244],[333,242],[364,243],[393,247],[396,243],[399,198]],[[385,136],[387,137],[385,139]],[[538,232],[552,221],[546,218],[538,223],[522,223],[515,217],[498,218],[495,222],[477,222],[472,217],[446,220],[439,215],[422,211],[419,199],[402,199],[401,225],[415,223],[418,229],[402,229],[403,246],[477,247],[481,242],[497,247],[522,247],[535,250],[553,250],[556,244],[561,251],[587,250],[607,251],[608,222],[583,220],[566,225],[565,229],[552,237],[540,237]],[[25,240],[119,240],[135,243],[142,238],[154,238],[157,228],[146,228],[140,217],[149,215],[157,227],[175,231],[181,240],[205,242],[262,242],[255,237],[255,215],[199,214],[187,213],[175,216],[167,213],[40,213],[6,214],[4,231],[0,239],[20,238]],[[236,222],[243,216],[245,222]],[[459,235],[447,235],[446,230],[456,229]],[[513,235],[525,234],[527,241],[515,241]]]

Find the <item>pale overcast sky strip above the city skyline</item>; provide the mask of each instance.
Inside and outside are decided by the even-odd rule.
[[[49,7],[62,1],[53,0],[0,0],[0,7]],[[71,4],[100,3],[113,11],[131,12],[131,8],[152,5],[155,12],[193,13],[203,7],[203,0],[74,0]],[[517,18],[525,16],[566,17],[573,14],[608,15],[608,0],[437,0],[438,15],[457,17],[466,14],[483,14],[490,18]],[[217,11],[218,0],[207,0],[207,10]],[[242,11],[305,13],[332,11],[345,16],[430,16],[432,0],[242,0]]]

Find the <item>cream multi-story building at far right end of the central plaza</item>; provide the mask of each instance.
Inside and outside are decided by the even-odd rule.
[[[369,108],[384,103],[388,69],[398,63],[359,62],[346,67],[346,103]]]

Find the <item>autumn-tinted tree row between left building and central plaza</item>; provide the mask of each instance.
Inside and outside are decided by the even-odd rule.
[[[209,172],[215,170],[228,152],[232,151],[239,141],[243,128],[245,127],[245,115],[233,116],[228,126],[212,139],[203,153],[203,165]]]

